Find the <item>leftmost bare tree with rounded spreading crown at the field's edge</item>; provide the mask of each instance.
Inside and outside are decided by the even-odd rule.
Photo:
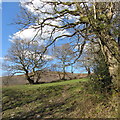
[[[25,74],[30,84],[38,83],[41,72],[49,61],[47,55],[43,55],[43,51],[44,46],[40,46],[37,41],[16,40],[5,56],[3,69],[9,71],[11,75]]]

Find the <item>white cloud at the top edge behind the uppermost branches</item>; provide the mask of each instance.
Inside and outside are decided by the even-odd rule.
[[[21,6],[26,8],[28,11],[35,15],[39,15],[40,18],[47,18],[48,16],[57,15],[54,13],[54,5],[51,5],[47,2],[58,2],[58,0],[20,0]],[[68,2],[69,0],[62,0],[63,2]],[[58,11],[62,11],[64,9],[75,10],[75,5],[59,5],[57,7]],[[45,14],[45,12],[53,13],[53,15]]]

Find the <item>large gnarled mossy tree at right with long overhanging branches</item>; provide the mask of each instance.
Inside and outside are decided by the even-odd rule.
[[[41,39],[45,39],[44,37],[48,33],[47,40],[49,42],[46,49],[63,38],[74,45],[82,41],[82,47],[77,50],[79,54],[76,56],[76,61],[81,56],[86,41],[92,42],[92,37],[99,38],[102,52],[107,58],[109,72],[113,77],[113,83],[118,85],[120,52],[116,38],[119,33],[116,35],[113,31],[118,28],[115,27],[117,23],[114,20],[119,18],[117,17],[119,16],[117,14],[119,12],[119,3],[64,2],[59,0],[55,2],[40,1],[40,6],[36,6],[31,0],[31,2],[25,2],[22,5],[26,8],[30,5],[32,7],[30,12],[33,12],[32,17],[36,19],[33,21],[26,12],[27,20],[23,19],[23,22],[20,21],[19,24],[23,24],[25,28],[33,25],[34,29],[40,31]],[[78,35],[79,40],[74,39]]]

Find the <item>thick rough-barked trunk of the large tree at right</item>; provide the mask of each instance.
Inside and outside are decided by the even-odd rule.
[[[109,73],[112,83],[117,90],[120,90],[120,51],[119,44],[112,36],[104,32],[99,34],[99,38],[103,47],[106,62],[109,67]]]

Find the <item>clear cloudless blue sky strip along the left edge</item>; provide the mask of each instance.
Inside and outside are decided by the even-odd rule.
[[[20,6],[18,2],[2,2],[2,56],[1,61],[10,47],[9,35],[18,31],[17,26],[11,25],[14,23],[16,15],[19,13]],[[0,76],[2,71],[0,70]]]

